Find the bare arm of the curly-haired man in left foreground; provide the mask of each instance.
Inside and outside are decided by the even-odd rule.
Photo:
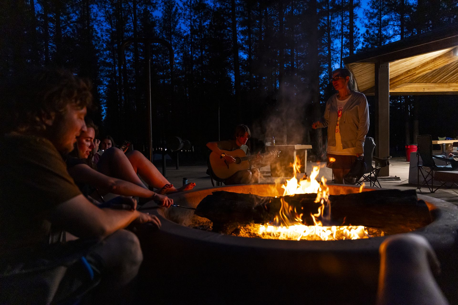
[[[60,203],[49,214],[49,220],[77,237],[103,238],[124,229],[132,222],[151,222],[160,227],[160,221],[156,216],[137,210],[99,209],[83,195]]]

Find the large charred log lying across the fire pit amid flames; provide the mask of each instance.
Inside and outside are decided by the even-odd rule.
[[[275,198],[219,191],[202,199],[195,213],[210,219],[213,231],[230,234],[238,226],[272,222],[280,213],[284,200],[291,214],[302,214],[303,224],[314,225],[311,214],[316,214],[321,206],[315,199],[316,193]],[[429,210],[424,201],[417,200],[415,190],[330,195],[329,201],[330,220],[323,225],[363,225],[396,234],[431,222]]]

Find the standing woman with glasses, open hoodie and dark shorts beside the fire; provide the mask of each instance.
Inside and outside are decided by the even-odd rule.
[[[363,154],[369,108],[365,95],[356,91],[348,69],[334,70],[331,81],[337,93],[327,100],[323,117],[312,128],[327,127],[327,167],[333,169],[334,182],[342,184],[356,158]]]

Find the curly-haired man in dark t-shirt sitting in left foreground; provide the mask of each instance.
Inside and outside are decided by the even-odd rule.
[[[78,303],[98,281],[94,304],[125,304],[143,255],[124,229],[161,223],[132,198],[96,207],[68,174],[61,154],[86,131],[89,82],[62,70],[24,72],[0,84],[0,304]],[[65,232],[79,239],[65,243]]]

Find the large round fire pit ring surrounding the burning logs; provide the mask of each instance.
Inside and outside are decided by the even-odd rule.
[[[174,203],[196,207],[216,191],[279,196],[274,184],[236,185],[176,193]],[[329,185],[331,195],[359,193],[358,187]],[[371,191],[366,188],[364,191]],[[432,222],[415,233],[438,254],[438,282],[458,300],[456,282],[457,207],[419,195]],[[153,205],[153,204],[152,204]],[[162,229],[141,235],[145,295],[158,304],[373,304],[379,269],[378,248],[386,237],[344,241],[285,241],[225,235],[193,227],[208,224],[193,210],[151,209]],[[395,215],[390,214],[388,216]],[[377,221],[382,221],[380,215]],[[400,220],[402,222],[402,220]],[[408,225],[402,225],[409,231]],[[153,294],[151,285],[159,285]],[[164,287],[164,285],[166,287]],[[179,291],[179,292],[178,292]]]

